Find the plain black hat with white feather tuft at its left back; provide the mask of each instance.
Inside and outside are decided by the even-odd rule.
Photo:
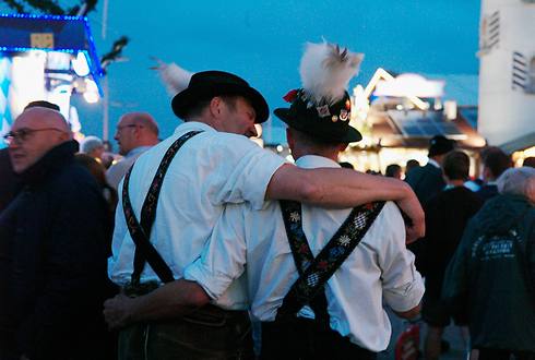
[[[156,59],[157,60],[157,59]],[[270,109],[262,94],[249,86],[243,79],[225,71],[201,71],[191,73],[176,63],[166,64],[158,61],[155,68],[167,91],[175,95],[171,101],[173,111],[181,119],[189,110],[203,100],[210,100],[221,95],[237,95],[248,99],[257,115],[255,122],[268,120]]]

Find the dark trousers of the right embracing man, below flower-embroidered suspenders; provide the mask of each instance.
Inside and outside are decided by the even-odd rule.
[[[262,360],[271,359],[355,359],[374,360],[377,353],[364,349],[340,333],[318,325],[313,320],[262,323]]]

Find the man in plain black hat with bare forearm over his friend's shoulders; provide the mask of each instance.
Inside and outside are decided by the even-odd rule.
[[[193,291],[176,292],[174,289],[181,284],[179,279],[185,267],[200,256],[225,204],[246,202],[260,209],[264,200],[286,197],[347,207],[372,200],[404,199],[400,204],[402,207],[408,205],[406,209],[417,227],[413,228],[412,238],[417,236],[416,232],[421,235],[423,211],[403,182],[348,169],[300,169],[248,140],[246,136],[257,134],[254,124],[268,119],[269,108],[263,96],[241,77],[222,71],[194,73],[171,105],[175,113],[186,122],[173,136],[143,154],[124,178],[128,185],[119,187],[122,201],[128,195],[132,205],[126,203],[127,215],[131,214],[128,208],[134,208],[134,214],[139,214],[148,189],[153,192],[159,182],[157,179],[163,177],[160,171],[156,175],[156,168],[164,154],[178,151],[173,160],[168,155],[162,163],[168,164],[168,170],[151,231],[151,243],[168,264],[171,280],[159,286],[160,277],[152,266],[133,264],[136,247],[131,232],[134,220],[128,215],[129,230],[122,201],[118,205],[114,254],[109,262],[110,278],[126,289],[141,295],[147,292],[146,288],[158,287],[148,297],[168,321],[134,321],[121,329],[120,358],[129,358],[139,351],[160,359],[178,355],[198,359],[251,356],[250,320],[239,301],[226,299],[216,305],[204,305],[188,317],[169,322],[179,313],[173,305],[175,300],[183,296],[195,297]],[[181,144],[181,147],[170,148],[173,144]],[[141,288],[135,286],[138,281]],[[117,301],[120,302],[121,297],[106,302],[105,313],[111,326],[118,324],[118,315],[112,310]],[[146,332],[148,327],[150,333]],[[166,343],[166,338],[170,340]]]

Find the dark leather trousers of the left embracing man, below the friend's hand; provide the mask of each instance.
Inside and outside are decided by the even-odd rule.
[[[120,332],[119,360],[171,359],[254,359],[249,314],[207,305],[182,319]]]

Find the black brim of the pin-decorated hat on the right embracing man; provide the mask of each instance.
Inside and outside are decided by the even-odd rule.
[[[290,112],[290,109],[277,108],[274,110],[274,112],[275,116],[284,121],[288,127],[299,130],[310,136],[313,136],[314,139],[333,143],[355,143],[362,140],[362,135],[360,134],[360,132],[349,125],[347,125],[347,129],[343,134],[332,133],[329,131],[320,132],[317,129],[312,129],[312,127],[304,125],[304,122],[306,123],[306,121],[299,120],[294,117]]]

